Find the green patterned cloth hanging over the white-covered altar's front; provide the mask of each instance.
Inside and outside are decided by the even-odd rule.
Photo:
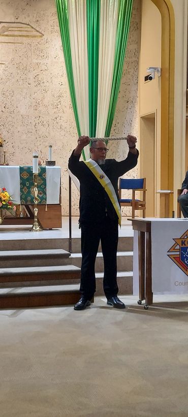
[[[46,204],[46,167],[39,167],[38,204]],[[34,204],[33,167],[20,167],[20,203]]]

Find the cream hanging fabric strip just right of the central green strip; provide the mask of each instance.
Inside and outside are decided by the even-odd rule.
[[[104,137],[112,87],[119,1],[101,2],[96,137]]]

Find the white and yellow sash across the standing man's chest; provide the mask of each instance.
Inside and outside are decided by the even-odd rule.
[[[95,175],[95,177],[98,179],[98,181],[101,183],[106,193],[108,194],[108,197],[111,200],[114,206],[114,209],[118,215],[119,226],[121,226],[121,209],[119,207],[117,196],[115,194],[115,190],[110,179],[107,177],[104,171],[102,171],[102,169],[97,164],[97,162],[93,161],[93,159],[89,159],[89,161],[83,161],[83,162],[85,165],[87,165],[87,167],[90,169],[93,175]]]

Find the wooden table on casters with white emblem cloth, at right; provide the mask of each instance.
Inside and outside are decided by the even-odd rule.
[[[153,294],[188,295],[188,220],[132,219],[134,230],[133,294],[138,304]]]

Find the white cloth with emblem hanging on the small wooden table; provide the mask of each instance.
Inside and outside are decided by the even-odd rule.
[[[188,219],[177,218],[146,218],[151,221],[151,276],[152,292],[158,294],[188,294],[188,275],[172,259],[170,254],[180,256],[180,247],[174,239],[180,239],[188,234]],[[182,239],[183,240],[183,239]],[[181,239],[180,239],[181,241]],[[185,251],[188,258],[187,238],[185,238]],[[188,261],[187,261],[188,268]],[[134,230],[134,258],[133,258],[133,291],[139,293],[138,271],[138,232]]]

